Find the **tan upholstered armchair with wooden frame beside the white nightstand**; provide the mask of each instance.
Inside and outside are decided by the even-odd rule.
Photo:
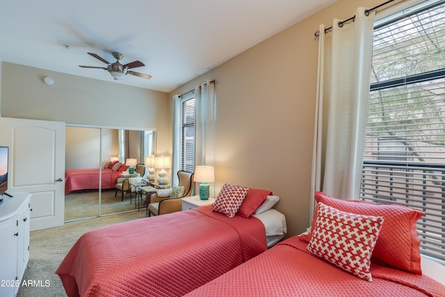
[[[179,186],[184,186],[184,192],[177,198],[159,197],[157,192],[149,195],[148,216],[158,216],[160,214],[170,214],[182,210],[182,200],[180,198],[188,197],[193,188],[193,172],[184,170],[178,171]]]

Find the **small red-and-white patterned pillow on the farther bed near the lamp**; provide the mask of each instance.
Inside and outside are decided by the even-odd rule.
[[[212,204],[211,211],[216,211],[225,214],[229,218],[233,218],[241,207],[248,190],[249,188],[244,186],[224,184],[220,193],[218,193],[218,197]]]

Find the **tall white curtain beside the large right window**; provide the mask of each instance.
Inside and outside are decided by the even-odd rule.
[[[355,22],[343,27],[334,19],[327,36],[320,26],[311,216],[316,191],[344,200],[359,194],[375,17],[365,10],[357,8]]]

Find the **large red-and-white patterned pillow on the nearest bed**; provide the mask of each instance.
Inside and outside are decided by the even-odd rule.
[[[351,214],[318,202],[315,228],[307,250],[372,282],[369,266],[383,220],[382,216]]]

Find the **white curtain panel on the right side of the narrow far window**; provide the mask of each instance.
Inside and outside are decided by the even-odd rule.
[[[195,88],[195,166],[215,167],[215,127],[215,81],[208,80]],[[213,183],[210,193],[216,197]]]

